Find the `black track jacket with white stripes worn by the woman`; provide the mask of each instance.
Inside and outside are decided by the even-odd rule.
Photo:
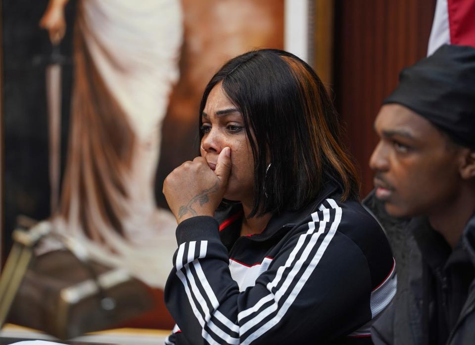
[[[239,237],[242,209],[177,228],[165,287],[177,323],[165,344],[372,344],[396,291],[384,232],[335,186]]]

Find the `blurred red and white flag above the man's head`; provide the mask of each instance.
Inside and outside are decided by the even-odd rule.
[[[442,44],[475,47],[475,0],[437,0],[427,56]]]

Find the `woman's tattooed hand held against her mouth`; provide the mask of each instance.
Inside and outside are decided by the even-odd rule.
[[[219,153],[215,171],[203,157],[173,170],[163,182],[163,194],[177,223],[194,216],[213,216],[223,199],[231,173],[231,149]]]

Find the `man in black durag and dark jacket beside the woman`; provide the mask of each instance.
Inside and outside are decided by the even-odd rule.
[[[475,49],[444,45],[403,70],[375,121],[375,191],[396,296],[375,344],[475,344]]]

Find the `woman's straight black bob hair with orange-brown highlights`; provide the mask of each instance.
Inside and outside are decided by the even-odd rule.
[[[360,180],[342,146],[338,115],[308,64],[277,49],[231,59],[204,90],[199,127],[208,95],[220,82],[242,114],[253,153],[254,208],[248,217],[298,210],[329,180],[341,186],[342,200],[359,198]]]

